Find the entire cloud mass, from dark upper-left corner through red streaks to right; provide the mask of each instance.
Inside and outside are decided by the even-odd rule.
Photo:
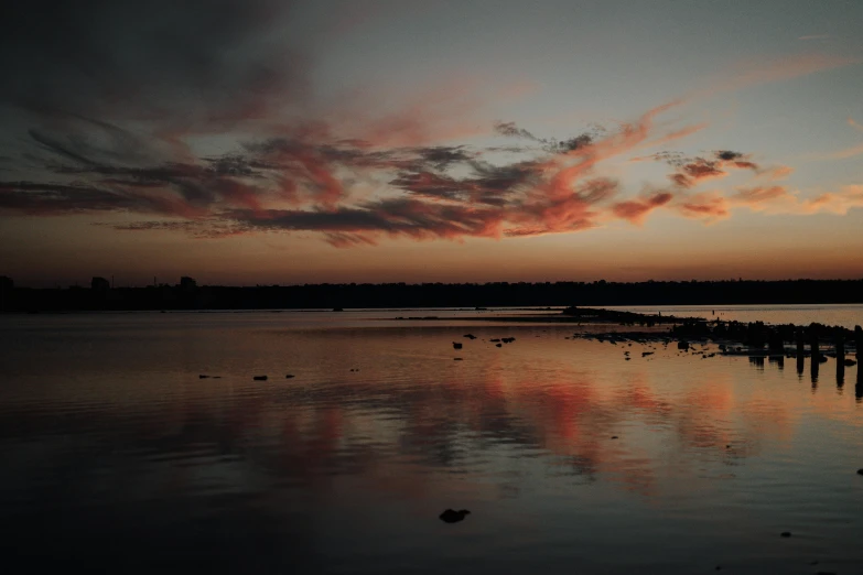
[[[657,210],[713,221],[738,208],[863,206],[860,186],[805,198],[777,184],[790,167],[753,153],[665,151],[706,127],[666,120],[680,102],[562,140],[514,121],[477,122],[483,99],[470,82],[436,82],[382,113],[348,104],[322,111],[310,96],[311,58],[274,24],[291,9],[276,0],[84,0],[47,12],[15,3],[0,52],[20,56],[0,63],[9,79],[0,109],[26,129],[0,158],[0,211],[126,214],[140,220],[118,230],[316,234],[354,247],[638,226]],[[789,62],[757,82],[843,64]],[[216,140],[217,152],[202,151]],[[660,162],[667,178],[626,189],[608,166],[632,160]],[[703,189],[731,176],[746,182]]]

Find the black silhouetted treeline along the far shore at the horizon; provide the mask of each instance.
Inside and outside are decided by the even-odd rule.
[[[863,280],[0,289],[10,312],[863,303]]]

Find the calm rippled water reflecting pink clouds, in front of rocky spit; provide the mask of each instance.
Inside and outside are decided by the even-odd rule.
[[[791,360],[431,315],[447,314],[0,318],[4,557],[17,573],[863,572],[856,367],[840,387],[832,360],[813,382]],[[472,513],[445,524],[446,508]]]

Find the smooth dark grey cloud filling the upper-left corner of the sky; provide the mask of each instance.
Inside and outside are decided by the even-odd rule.
[[[304,62],[270,34],[278,0],[33,0],[3,7],[0,102],[42,113],[227,124],[300,98]]]

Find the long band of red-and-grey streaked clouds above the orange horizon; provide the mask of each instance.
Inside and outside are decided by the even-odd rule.
[[[615,219],[638,225],[659,207],[712,221],[735,207],[844,213],[863,203],[857,192],[849,191],[800,200],[781,186],[738,188],[727,197],[681,189],[731,170],[770,177],[789,171],[762,171],[748,156],[730,150],[704,158],[656,153],[651,158],[676,169],[669,176],[676,187],[619,198],[619,184],[602,176],[606,162],[700,129],[657,127],[658,115],[675,105],[651,109],[617,131],[563,143],[499,122],[498,133],[532,145],[510,150],[522,155],[504,164],[488,161],[498,148],[418,145],[435,131],[423,128],[428,110],[434,109],[431,100],[417,104],[413,117],[397,113],[387,121],[366,122],[354,138],[336,135],[326,122],[303,121],[281,126],[284,135],[248,143],[229,155],[149,167],[112,163],[106,150],[73,149],[75,138],[36,133],[43,153],[63,162],[51,164],[61,182],[0,183],[0,208],[35,215],[126,211],[181,217],[184,221],[132,223],[118,229],[185,230],[195,237],[312,231],[346,248],[374,246],[386,237],[459,240],[573,232]],[[118,128],[111,127],[110,133],[117,142],[129,140]],[[68,182],[73,177],[75,182]],[[363,195],[357,193],[360,186]]]

